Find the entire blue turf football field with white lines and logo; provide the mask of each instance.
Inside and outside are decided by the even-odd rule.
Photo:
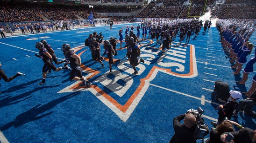
[[[119,39],[119,29],[127,25],[132,24],[114,25],[112,30],[100,26],[0,39],[1,68],[8,77],[16,71],[26,74],[9,83],[0,81],[0,141],[165,143],[174,134],[172,119],[191,108],[204,109],[205,123],[212,127],[210,122],[218,118],[214,108],[220,104],[211,99],[214,81],[227,82],[232,90],[249,90],[255,72],[249,74],[245,85],[235,83],[242,75],[231,73],[215,27],[206,35],[201,30],[190,40],[191,45],[178,45],[177,37],[165,55],[161,55],[156,40],[143,41],[141,57],[145,63],[137,66],[138,75],[132,75],[128,60],[116,63],[113,74],[108,75],[107,61],[103,62],[105,68],[100,68],[91,60],[85,38],[96,31],[102,32],[104,39]],[[69,70],[52,71],[45,85],[37,85],[43,61],[35,56],[35,43],[42,39],[53,47],[59,60],[64,58],[61,45],[69,43],[81,55],[83,74],[93,85],[85,88],[70,81]],[[250,41],[256,44],[255,34]],[[119,50],[115,58],[125,54],[126,49]],[[255,118],[248,115],[241,113],[232,120],[256,129]]]

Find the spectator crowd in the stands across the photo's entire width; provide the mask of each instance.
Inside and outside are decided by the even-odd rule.
[[[256,5],[254,0],[226,0],[223,5],[215,5],[216,0],[207,0],[206,4],[205,0],[193,0],[191,1],[192,3],[183,5],[186,1],[187,0],[156,0],[150,1],[147,7],[94,6],[93,8],[89,8],[88,5],[66,6],[12,1],[12,3],[1,4],[0,22],[79,20],[87,19],[91,12],[93,12],[94,19],[109,18],[109,15],[100,15],[99,13],[129,13],[135,10],[141,10],[140,13],[135,15],[135,18],[190,18],[193,16],[201,16],[211,10],[212,16],[218,17],[219,19],[256,19],[254,13]],[[110,2],[116,3],[124,1],[110,0]],[[136,2],[136,0],[128,0],[128,2]]]

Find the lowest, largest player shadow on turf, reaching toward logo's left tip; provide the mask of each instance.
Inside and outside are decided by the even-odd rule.
[[[45,113],[46,111],[54,108],[57,104],[60,104],[60,103],[66,101],[67,99],[69,99],[71,97],[77,96],[79,93],[80,92],[73,92],[73,93],[71,93],[69,95],[66,95],[64,97],[59,97],[59,98],[57,98],[57,99],[55,99],[55,100],[53,100],[53,101],[51,101],[47,104],[44,104],[43,106],[41,106],[41,104],[38,104],[35,107],[31,108],[30,110],[19,114],[14,119],[14,121],[11,121],[11,122],[6,123],[5,125],[1,126],[0,130],[2,130],[2,131],[7,130],[7,129],[11,128],[12,126],[17,128],[19,126],[22,126],[25,123],[32,122],[32,121],[38,120],[40,118],[43,118],[45,116],[48,116],[53,111]],[[43,114],[43,115],[40,115],[40,114]],[[38,115],[40,115],[40,116],[38,116]]]

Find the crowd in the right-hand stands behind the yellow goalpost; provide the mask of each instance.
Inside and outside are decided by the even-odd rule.
[[[253,0],[227,0],[227,3],[224,3],[224,5],[215,5],[216,0],[207,0],[206,6],[205,0],[192,1],[195,3],[186,6],[182,5],[184,1],[182,0],[181,4],[179,4],[179,0],[164,0],[164,5],[160,7],[156,7],[156,5],[162,1],[151,1],[148,7],[144,8],[136,17],[189,18],[191,16],[203,15],[210,8],[212,9],[212,16],[218,17],[219,19],[256,19],[256,15],[254,14],[256,5]]]

